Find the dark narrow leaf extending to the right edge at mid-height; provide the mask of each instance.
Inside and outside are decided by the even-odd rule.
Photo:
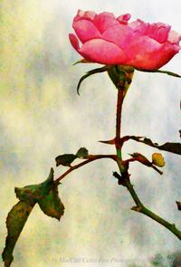
[[[174,154],[181,155],[181,143],[171,143],[167,142],[164,145],[159,146],[157,143],[153,143],[151,139],[149,138],[140,138],[140,137],[135,137],[135,136],[130,136],[130,139],[136,140],[140,143],[144,143],[152,148],[157,148],[159,150],[164,150],[167,152],[171,152]]]

